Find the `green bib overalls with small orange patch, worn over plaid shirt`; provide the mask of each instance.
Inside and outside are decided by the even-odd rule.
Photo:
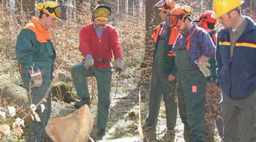
[[[191,65],[186,45],[177,47],[175,64],[178,109],[184,123],[184,139],[186,142],[207,142],[204,132],[206,78]]]

